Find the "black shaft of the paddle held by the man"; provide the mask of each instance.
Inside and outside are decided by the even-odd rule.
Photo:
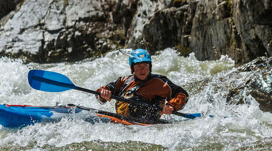
[[[86,88],[77,87],[77,90],[101,96],[100,92],[89,90],[89,89],[86,89]],[[115,100],[119,100],[119,101],[124,101],[124,102],[127,102],[127,103],[133,103],[133,104],[141,105],[141,106],[144,106],[144,107],[154,108],[154,109],[156,109],[158,111],[162,111],[163,110],[163,108],[160,108],[160,107],[157,107],[157,106],[153,106],[153,105],[150,105],[150,104],[141,103],[141,102],[138,102],[138,101],[132,101],[132,100],[129,100],[129,99],[126,99],[126,98],[122,98],[122,97],[118,97],[118,96],[114,96],[114,95],[111,95],[111,98],[115,99]],[[172,114],[179,115],[179,116],[182,116],[182,117],[186,116],[186,118],[188,118],[188,116],[189,116],[188,114],[186,115],[184,113],[180,113],[180,112],[176,112],[176,111],[172,111]],[[193,118],[195,118],[195,117],[192,116],[192,119]]]

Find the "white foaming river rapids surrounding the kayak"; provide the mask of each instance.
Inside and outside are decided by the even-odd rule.
[[[166,75],[189,93],[189,101],[180,112],[202,113],[201,118],[184,121],[183,117],[169,115],[163,118],[172,124],[152,126],[93,125],[71,117],[21,129],[0,125],[0,150],[272,150],[271,114],[262,112],[251,95],[244,95],[243,101],[250,102],[246,105],[226,103],[228,79],[232,78],[226,75],[235,70],[228,56],[198,61],[193,53],[185,58],[167,48],[152,56],[152,62],[152,73]],[[130,74],[128,57],[118,51],[76,63],[23,64],[20,59],[2,57],[0,69],[0,104],[54,106],[57,101],[110,112],[115,112],[115,100],[101,105],[94,95],[85,92],[35,90],[28,84],[28,71],[59,72],[76,86],[91,90]]]

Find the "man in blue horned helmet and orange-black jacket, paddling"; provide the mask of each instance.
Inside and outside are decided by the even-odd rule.
[[[133,50],[128,63],[131,74],[119,77],[96,91],[101,92],[101,97],[96,96],[100,104],[111,101],[110,96],[125,97],[134,101],[163,107],[163,111],[142,107],[135,104],[116,101],[117,114],[136,118],[160,118],[161,114],[171,114],[172,111],[181,110],[188,101],[188,93],[180,86],[171,82],[166,76],[152,74],[151,55],[146,41],[146,50]],[[166,103],[166,101],[168,101]],[[166,103],[166,104],[165,104]]]

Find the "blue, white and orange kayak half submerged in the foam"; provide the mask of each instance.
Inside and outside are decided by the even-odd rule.
[[[115,123],[124,125],[167,124],[167,120],[138,119],[111,112],[67,104],[65,106],[31,106],[0,104],[0,124],[21,128],[35,123],[57,123],[63,117],[76,116],[92,124]]]

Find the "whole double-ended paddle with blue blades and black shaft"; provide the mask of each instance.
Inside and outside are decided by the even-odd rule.
[[[46,91],[46,92],[63,92],[66,90],[70,89],[75,89],[87,93],[92,93],[95,95],[101,95],[100,92],[96,92],[93,90],[89,90],[86,88],[81,88],[73,84],[71,80],[57,72],[51,72],[51,71],[44,71],[44,70],[30,70],[28,72],[28,82],[30,86],[34,89],[40,90],[40,91]],[[141,105],[144,107],[149,107],[149,108],[154,108],[158,111],[162,111],[163,108],[157,107],[157,106],[152,106],[149,104],[137,102],[137,101],[132,101],[126,98],[118,97],[111,95],[112,99],[119,100],[119,101],[124,101],[128,103],[133,103],[137,105]],[[189,119],[194,119],[196,117],[201,117],[200,113],[197,114],[184,114],[176,111],[172,111],[172,114],[179,115],[182,117],[186,117]],[[210,117],[212,117],[210,115]]]

